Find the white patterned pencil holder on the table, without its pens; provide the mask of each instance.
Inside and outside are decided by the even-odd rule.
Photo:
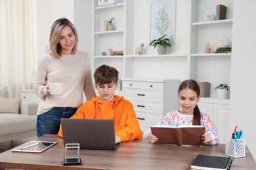
[[[231,139],[226,137],[226,155],[233,158],[241,158],[245,156],[245,139]]]

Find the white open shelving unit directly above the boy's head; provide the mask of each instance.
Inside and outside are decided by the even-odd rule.
[[[93,3],[93,73],[97,67],[107,64],[119,71],[119,76],[133,76],[133,59],[125,58],[133,54],[133,0],[123,0],[115,5],[98,7],[98,0]],[[115,18],[114,31],[104,31],[102,22]],[[108,50],[123,51],[120,56],[102,56]]]

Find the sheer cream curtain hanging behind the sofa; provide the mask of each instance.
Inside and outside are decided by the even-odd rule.
[[[33,0],[0,0],[0,86],[17,98],[34,69]]]

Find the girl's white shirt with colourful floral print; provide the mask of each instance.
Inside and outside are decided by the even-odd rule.
[[[171,111],[167,112],[165,116],[158,122],[158,125],[171,124],[173,126],[181,126],[181,125],[191,125],[193,124],[193,115],[181,114],[179,111]],[[207,131],[211,135],[212,143],[219,143],[219,136],[217,127],[213,124],[213,120],[211,120],[210,116],[205,113],[201,113],[201,125],[205,127],[205,131]]]

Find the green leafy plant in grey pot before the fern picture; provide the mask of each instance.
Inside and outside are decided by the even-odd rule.
[[[163,35],[159,39],[154,39],[150,42],[150,46],[158,46],[158,54],[167,54],[167,46],[171,47],[170,39],[166,38],[167,35]]]

